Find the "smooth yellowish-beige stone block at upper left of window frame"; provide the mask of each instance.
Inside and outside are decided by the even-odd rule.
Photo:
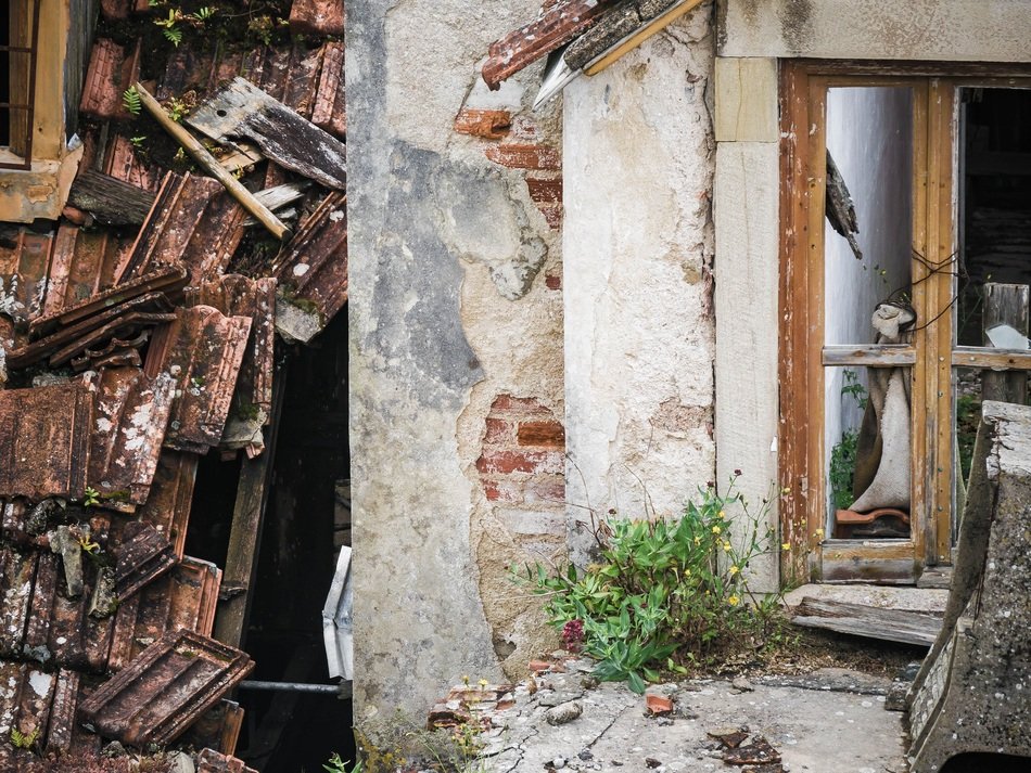
[[[716,59],[717,142],[776,142],[777,60]]]

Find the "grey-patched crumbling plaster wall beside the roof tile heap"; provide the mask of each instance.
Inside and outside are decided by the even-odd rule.
[[[355,699],[367,726],[394,708],[418,719],[462,674],[498,680],[505,658],[540,644],[536,603],[505,575],[563,534],[506,517],[478,462],[501,398],[563,415],[560,245],[527,180],[557,175],[557,120],[517,118],[514,139],[455,131],[470,100],[525,113],[539,68],[499,94],[474,83],[491,41],[538,10],[347,7]]]

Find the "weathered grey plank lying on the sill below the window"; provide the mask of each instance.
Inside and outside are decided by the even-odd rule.
[[[823,628],[838,633],[924,647],[930,647],[942,629],[941,616],[881,609],[812,596],[802,600],[791,622],[805,628]]]

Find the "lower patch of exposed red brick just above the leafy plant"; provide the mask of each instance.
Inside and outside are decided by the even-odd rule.
[[[534,398],[498,395],[476,461],[495,513],[514,534],[565,530],[565,429]]]

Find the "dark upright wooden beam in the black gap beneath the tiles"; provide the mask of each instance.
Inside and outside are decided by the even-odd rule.
[[[284,361],[281,368],[285,371],[287,366]],[[262,549],[265,508],[283,407],[284,378],[283,373],[272,379],[272,421],[265,438],[265,452],[254,459],[244,459],[240,466],[214,632],[219,642],[234,647],[243,645],[243,633],[251,614],[251,588],[257,574],[257,558]]]

